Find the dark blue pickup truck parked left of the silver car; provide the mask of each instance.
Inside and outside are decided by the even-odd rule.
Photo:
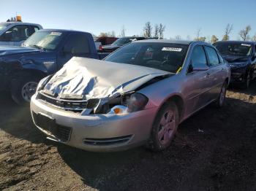
[[[102,59],[91,34],[81,31],[39,30],[22,47],[0,46],[0,91],[9,90],[18,104],[30,101],[37,83],[56,73],[73,56]]]

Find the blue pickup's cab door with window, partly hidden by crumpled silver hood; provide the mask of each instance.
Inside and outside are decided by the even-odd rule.
[[[58,69],[67,63],[73,56],[90,58],[90,48],[87,36],[84,34],[69,34],[64,46],[57,57]]]

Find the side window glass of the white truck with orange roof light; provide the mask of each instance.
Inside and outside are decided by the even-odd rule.
[[[29,36],[29,26],[14,26],[4,33],[1,40],[7,42],[20,42],[28,39]]]

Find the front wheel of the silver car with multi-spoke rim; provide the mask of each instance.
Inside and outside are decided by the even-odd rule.
[[[176,134],[178,120],[178,108],[176,104],[174,102],[165,103],[154,120],[151,137],[147,144],[148,149],[153,151],[167,149]]]

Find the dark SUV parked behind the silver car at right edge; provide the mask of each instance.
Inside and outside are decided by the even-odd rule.
[[[214,44],[230,64],[231,83],[249,87],[256,77],[256,42],[223,41]]]

